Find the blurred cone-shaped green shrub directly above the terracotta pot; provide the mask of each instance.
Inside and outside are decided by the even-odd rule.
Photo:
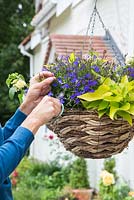
[[[72,188],[89,188],[86,161],[83,158],[76,159],[71,168],[70,186]]]

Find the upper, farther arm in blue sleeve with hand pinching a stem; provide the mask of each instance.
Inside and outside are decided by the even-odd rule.
[[[4,140],[8,139],[14,133],[16,128],[25,120],[27,115],[29,115],[38,105],[43,96],[50,91],[50,84],[55,80],[55,77],[51,72],[40,73],[40,78],[45,78],[42,82],[39,82],[38,77],[39,75],[36,75],[30,80],[30,87],[24,102],[3,127]]]

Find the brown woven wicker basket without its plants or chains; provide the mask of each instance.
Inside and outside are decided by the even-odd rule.
[[[65,111],[48,128],[58,135],[66,150],[94,159],[122,152],[134,135],[134,126],[123,119],[99,119],[95,111]]]

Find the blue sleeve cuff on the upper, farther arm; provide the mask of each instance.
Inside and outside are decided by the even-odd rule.
[[[14,133],[16,128],[20,126],[20,124],[26,119],[26,117],[27,115],[17,109],[15,114],[7,121],[5,126],[2,128],[4,140],[9,138]]]

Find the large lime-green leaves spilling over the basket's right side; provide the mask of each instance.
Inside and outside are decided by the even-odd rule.
[[[93,93],[79,96],[86,109],[97,109],[99,117],[104,114],[112,120],[122,117],[132,125],[134,114],[134,81],[123,76],[119,83],[106,78]]]

